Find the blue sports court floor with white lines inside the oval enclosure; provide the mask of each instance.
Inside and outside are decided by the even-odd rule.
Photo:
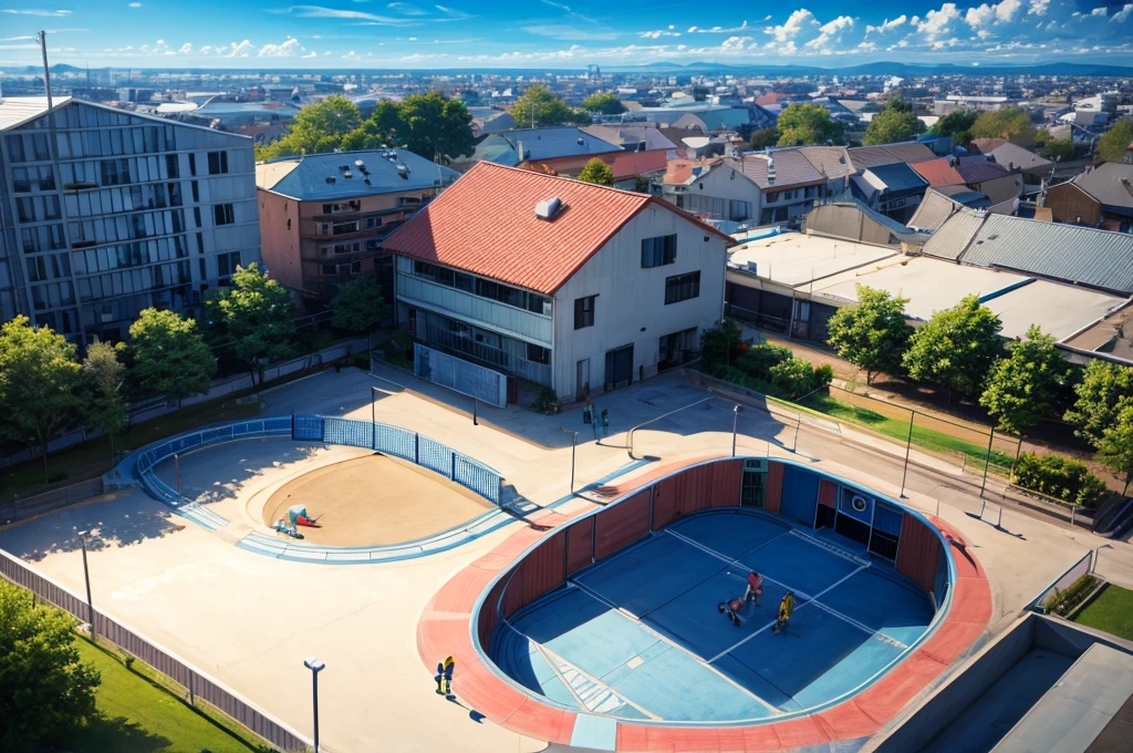
[[[493,635],[496,666],[568,708],[628,719],[770,720],[826,704],[926,633],[928,597],[884,562],[750,508],[697,513],[572,575]],[[851,551],[854,550],[854,551]],[[764,576],[734,625],[718,604]],[[776,634],[780,601],[795,608]]]

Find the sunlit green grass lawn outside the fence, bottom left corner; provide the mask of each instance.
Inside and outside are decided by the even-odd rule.
[[[117,659],[77,642],[83,661],[102,672],[95,701],[99,718],[77,731],[63,748],[74,753],[249,753],[249,745],[194,711],[164,688],[123,667]]]

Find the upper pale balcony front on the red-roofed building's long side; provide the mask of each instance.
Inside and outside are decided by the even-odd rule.
[[[403,272],[398,273],[397,286],[398,299],[409,305],[428,308],[519,340],[551,347],[554,324],[550,316],[508,306]]]

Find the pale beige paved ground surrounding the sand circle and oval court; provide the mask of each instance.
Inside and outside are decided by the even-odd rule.
[[[470,414],[469,400],[419,383],[401,371],[383,371],[382,375],[431,399],[351,369],[267,391],[264,414],[299,411],[369,420],[370,388],[380,387],[373,408],[378,421],[419,431],[484,460],[504,474],[517,498],[540,506],[570,492],[571,437],[560,425],[583,432],[578,435],[574,463],[578,487],[630,462],[627,432],[636,423],[683,406],[693,407],[636,433],[637,457],[667,463],[731,450],[732,401],[688,384],[679,373],[597,400],[610,408],[615,432],[600,443],[593,433],[585,433],[589,426],[582,424],[578,409],[543,416],[523,408],[482,406],[477,413],[484,422],[474,425],[470,415],[462,413]],[[896,494],[901,488],[903,448],[841,434],[829,422],[807,420],[796,425],[792,416],[756,408],[742,409],[738,423],[740,454],[815,458],[824,469],[878,491]],[[867,443],[855,443],[857,439]],[[954,468],[931,466],[915,455],[914,459],[923,464],[909,468],[905,488],[914,492],[910,504],[934,515],[938,508],[939,517],[969,541],[989,575],[994,626],[1010,621],[1088,549],[1110,545],[1100,552],[1099,572],[1133,585],[1128,544],[1051,524],[1049,518],[1010,505],[1003,508],[1002,525],[994,527],[978,516],[982,507],[978,479],[972,487],[971,479],[955,475]],[[303,457],[281,459],[283,466],[303,462]],[[624,480],[653,465],[630,471]],[[261,475],[248,467],[241,469],[233,462],[221,474],[202,466],[191,479],[182,477],[182,483],[205,488],[230,482],[236,489],[230,501],[239,502],[267,481],[266,471]],[[606,500],[598,488],[556,511],[569,515]],[[985,518],[997,521],[993,511],[986,510]],[[449,578],[522,525],[517,522],[432,557],[326,567],[242,551],[225,528],[208,533],[187,525],[140,491],[130,490],[0,531],[0,547],[80,592],[83,564],[76,533],[93,530],[91,585],[97,606],[307,734],[310,677],[303,660],[323,659],[327,669],[320,678],[321,731],[332,753],[497,753],[536,751],[544,744],[487,722],[474,709],[437,699],[431,672],[417,657],[416,626]],[[459,687],[458,674],[458,693]]]

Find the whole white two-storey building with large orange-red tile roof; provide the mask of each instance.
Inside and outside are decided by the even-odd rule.
[[[418,342],[570,401],[699,350],[732,243],[654,196],[480,162],[384,247]]]

